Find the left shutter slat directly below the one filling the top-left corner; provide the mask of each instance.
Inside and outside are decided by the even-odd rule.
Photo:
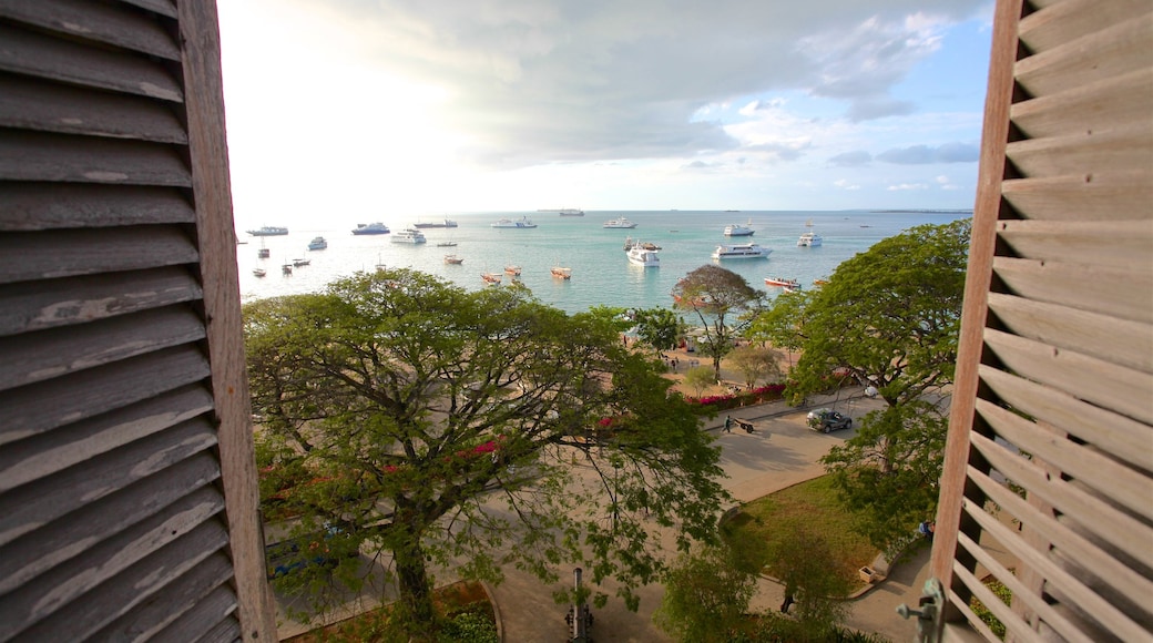
[[[180,82],[158,60],[91,47],[0,23],[0,69],[173,103]]]

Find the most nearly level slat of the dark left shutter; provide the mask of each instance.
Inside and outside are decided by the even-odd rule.
[[[196,212],[178,188],[67,183],[6,183],[0,232],[193,224]]]

